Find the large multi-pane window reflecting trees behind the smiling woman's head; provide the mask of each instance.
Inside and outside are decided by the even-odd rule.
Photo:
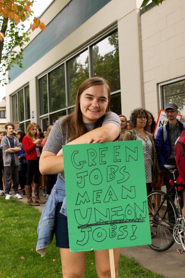
[[[80,84],[89,77],[104,77],[111,88],[111,111],[121,114],[118,33],[89,44],[74,57],[39,78],[42,129],[52,120],[70,114]]]

